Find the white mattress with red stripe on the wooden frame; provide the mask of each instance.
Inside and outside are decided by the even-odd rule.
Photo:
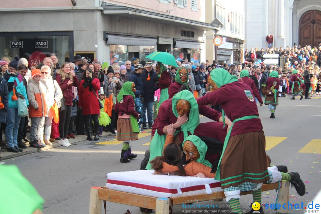
[[[220,192],[221,183],[214,178],[178,175],[153,175],[154,170],[111,172],[107,174],[107,188],[158,198],[211,194]]]

